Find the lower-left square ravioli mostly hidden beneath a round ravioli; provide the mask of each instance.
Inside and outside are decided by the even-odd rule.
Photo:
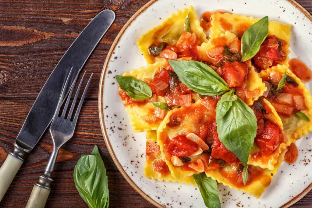
[[[156,131],[148,131],[146,133],[146,162],[144,168],[144,175],[158,181],[172,181],[195,185],[192,176],[185,178],[175,178],[171,175],[166,162],[162,158],[159,145],[157,144]]]

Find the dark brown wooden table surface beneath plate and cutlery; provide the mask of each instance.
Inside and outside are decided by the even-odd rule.
[[[124,180],[102,137],[98,115],[99,78],[107,52],[127,20],[148,0],[0,0],[0,164],[12,150],[17,133],[41,87],[79,32],[103,9],[116,20],[96,47],[84,70],[94,72],[74,137],[61,149],[46,207],[87,207],[73,180],[81,154],[96,144],[107,169],[110,207],[154,207]],[[310,0],[298,0],[310,12]],[[0,203],[24,207],[32,186],[52,151],[47,132],[29,155]],[[293,207],[312,207],[312,192]]]

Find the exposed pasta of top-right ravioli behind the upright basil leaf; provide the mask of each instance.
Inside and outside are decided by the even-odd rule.
[[[244,32],[250,27],[253,23],[260,20],[260,18],[247,17],[245,15],[230,14],[230,13],[220,13],[216,12],[211,16],[212,21],[210,28],[210,38],[216,38],[221,34],[224,34],[226,31],[235,33],[239,38],[244,34]],[[269,34],[268,36],[277,36],[280,39],[283,39],[287,42],[286,56],[287,58],[280,62],[281,65],[288,64],[288,54],[290,53],[288,47],[290,46],[290,25],[283,24],[276,21],[269,21]]]

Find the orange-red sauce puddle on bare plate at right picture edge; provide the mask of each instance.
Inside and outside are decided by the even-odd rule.
[[[300,59],[290,59],[289,68],[303,82],[308,82],[312,79],[311,70]]]

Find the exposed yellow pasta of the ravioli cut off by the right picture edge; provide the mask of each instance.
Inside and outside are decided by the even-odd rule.
[[[305,84],[301,82],[301,80],[296,77],[286,65],[277,65],[273,66],[267,70],[260,72],[260,77],[262,79],[266,79],[270,76],[270,73],[279,73],[282,75],[286,71],[287,76],[291,77],[298,83],[298,90],[302,90],[304,102],[306,109],[301,110],[300,112],[304,113],[309,119],[310,122],[300,119],[298,116],[293,114],[291,117],[281,117],[283,123],[284,132],[288,138],[287,146],[290,143],[295,142],[297,139],[300,139],[302,136],[307,135],[309,131],[312,130],[312,96],[309,93],[309,90],[305,87]]]

